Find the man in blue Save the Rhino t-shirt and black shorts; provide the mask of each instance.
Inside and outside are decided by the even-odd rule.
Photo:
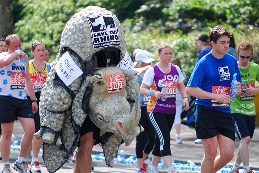
[[[241,76],[236,59],[227,54],[231,35],[231,31],[221,26],[210,31],[212,51],[197,62],[186,87],[187,94],[197,97],[195,130],[205,153],[201,173],[217,172],[234,156],[235,132],[230,109],[230,87],[236,73],[240,90]]]

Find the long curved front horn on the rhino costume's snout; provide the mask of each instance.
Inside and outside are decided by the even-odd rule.
[[[139,85],[137,86],[137,96],[135,99],[135,103],[132,109],[132,112],[126,118],[125,122],[127,122],[128,129],[133,130],[136,129],[140,119],[140,95],[139,95]]]

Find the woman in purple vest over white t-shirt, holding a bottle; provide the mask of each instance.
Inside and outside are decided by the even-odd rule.
[[[147,111],[149,120],[156,130],[155,146],[152,152],[152,163],[149,173],[158,173],[158,163],[162,157],[168,173],[174,173],[170,149],[170,131],[176,112],[175,95],[177,88],[184,98],[184,106],[189,109],[188,97],[185,92],[184,76],[180,67],[170,63],[172,48],[169,44],[158,47],[159,62],[149,68],[140,86],[140,94],[150,96]],[[165,86],[166,95],[161,92]],[[148,88],[151,87],[149,90]],[[162,101],[161,97],[166,98]]]

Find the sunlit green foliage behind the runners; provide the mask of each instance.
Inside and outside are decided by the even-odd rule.
[[[169,43],[173,57],[181,58],[187,77],[199,54],[195,40],[218,24],[232,31],[236,46],[250,41],[254,46],[251,61],[259,63],[258,0],[17,0],[13,4],[14,17],[19,19],[14,33],[23,39],[23,50],[32,56],[32,42],[42,40],[50,62],[58,54],[66,22],[83,8],[96,5],[119,18],[130,54],[141,48],[157,59],[159,44]]]

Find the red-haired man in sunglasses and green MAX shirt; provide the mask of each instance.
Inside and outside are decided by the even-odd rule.
[[[253,54],[253,46],[248,41],[241,42],[237,47],[236,54],[239,57],[238,67],[241,73],[244,92],[240,91],[231,104],[231,113],[234,117],[234,127],[240,139],[237,156],[230,173],[238,173],[240,163],[243,162],[245,173],[252,173],[249,167],[248,146],[253,138],[256,126],[256,107],[254,104],[255,93],[259,93],[259,88],[255,88],[255,80],[259,80],[259,65],[249,62]]]

